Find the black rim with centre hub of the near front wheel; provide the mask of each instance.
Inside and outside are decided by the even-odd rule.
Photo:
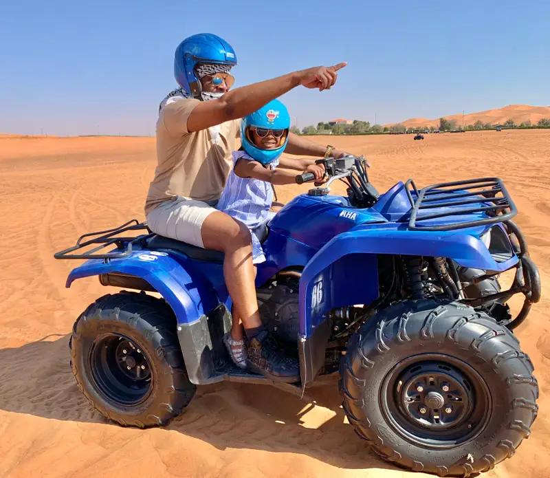
[[[470,365],[443,354],[399,362],[384,379],[381,399],[401,435],[434,448],[472,439],[492,413],[483,378]]]

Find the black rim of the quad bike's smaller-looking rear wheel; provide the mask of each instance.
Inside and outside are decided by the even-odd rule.
[[[89,352],[89,364],[98,391],[119,406],[140,404],[151,391],[148,358],[127,337],[105,334],[96,338]]]

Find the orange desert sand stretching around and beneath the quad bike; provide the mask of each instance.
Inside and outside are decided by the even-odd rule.
[[[369,157],[379,191],[408,177],[417,186],[505,180],[542,276],[542,301],[517,330],[535,365],[540,410],[516,456],[483,476],[550,476],[550,130],[314,140]],[[199,387],[185,413],[146,431],[89,408],[67,343],[78,314],[115,289],[97,278],[66,289],[80,261],[53,254],[85,232],[143,219],[154,169],[154,138],[0,138],[0,477],[429,476],[393,468],[365,447],[344,418],[336,377],[304,401],[268,386]],[[280,187],[278,198],[307,187]]]

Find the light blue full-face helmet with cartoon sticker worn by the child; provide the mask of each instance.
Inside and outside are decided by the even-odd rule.
[[[274,138],[278,141],[276,149],[261,149],[252,140],[250,128],[279,130],[281,135]],[[241,144],[243,149],[261,164],[269,164],[276,160],[288,142],[288,130],[290,127],[290,116],[287,107],[279,100],[273,100],[261,107],[254,113],[245,116],[241,121]]]

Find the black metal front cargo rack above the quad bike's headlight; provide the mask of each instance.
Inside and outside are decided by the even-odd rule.
[[[412,191],[410,190],[412,186]],[[418,190],[410,179],[405,191],[411,210],[408,216],[410,230],[456,230],[486,226],[504,222],[516,216],[518,210],[503,183],[498,177],[483,177],[476,180],[442,182]],[[415,193],[416,199],[412,197]],[[460,200],[456,200],[460,199]],[[462,206],[462,207],[456,207]],[[443,213],[429,213],[430,209],[448,208]],[[486,213],[487,217],[474,221],[457,221],[451,224],[426,224],[429,219]]]

